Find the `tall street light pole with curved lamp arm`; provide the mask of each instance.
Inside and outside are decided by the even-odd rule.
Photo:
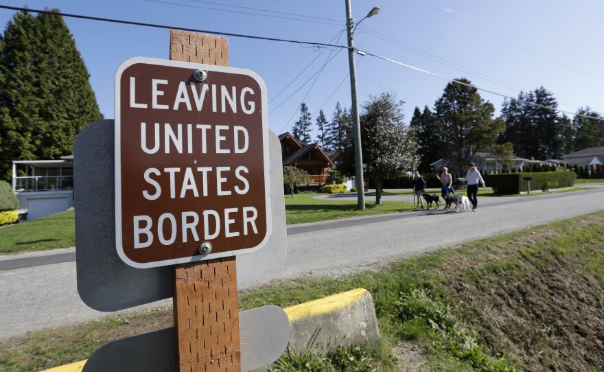
[[[380,12],[377,6],[373,8],[367,16],[358,21],[357,26],[366,18],[375,16]],[[354,40],[352,38],[356,26],[353,26],[352,11],[350,9],[350,0],[346,0],[346,29],[348,31],[348,64],[350,67],[350,93],[352,97],[352,128],[354,137],[354,159],[356,167],[356,194],[357,194],[357,209],[365,209],[365,185],[363,181],[363,156],[361,150],[361,128],[359,124],[358,113],[358,93],[356,90],[356,65],[354,64]]]

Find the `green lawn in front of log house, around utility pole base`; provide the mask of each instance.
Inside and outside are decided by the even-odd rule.
[[[413,209],[413,202],[382,202],[375,205],[371,194],[365,198],[364,211],[357,210],[356,200],[321,200],[313,196],[320,194],[297,194],[286,196],[286,220],[288,224],[335,220],[337,218],[370,216],[374,214],[399,213]],[[384,195],[388,195],[387,193]],[[393,194],[390,194],[393,195]]]

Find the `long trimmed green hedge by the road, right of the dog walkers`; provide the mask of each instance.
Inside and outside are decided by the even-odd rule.
[[[548,189],[574,186],[574,172],[538,172],[538,173],[505,173],[489,174],[485,176],[487,186],[492,187],[498,194],[520,194],[526,192],[528,184],[524,177],[533,177],[531,190],[541,190],[547,186]],[[558,185],[549,185],[549,181],[557,180]]]

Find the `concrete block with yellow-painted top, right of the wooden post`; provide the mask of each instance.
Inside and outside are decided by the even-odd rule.
[[[290,347],[303,351],[320,329],[313,349],[380,343],[371,293],[363,288],[283,309],[290,319]]]

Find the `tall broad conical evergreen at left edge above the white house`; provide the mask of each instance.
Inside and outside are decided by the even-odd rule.
[[[72,154],[80,130],[102,119],[61,16],[16,13],[0,38],[0,76],[0,177],[13,160]]]

